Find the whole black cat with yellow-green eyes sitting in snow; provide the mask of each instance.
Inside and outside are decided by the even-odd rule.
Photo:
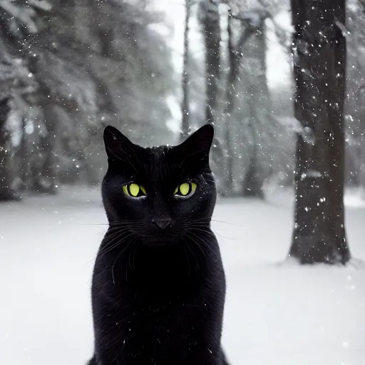
[[[210,230],[214,130],[142,148],[104,130],[109,228],[93,272],[90,365],[224,365],[225,272]]]

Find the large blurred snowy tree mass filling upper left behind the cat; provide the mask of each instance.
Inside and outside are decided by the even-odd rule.
[[[55,192],[58,178],[76,183],[81,175],[97,183],[108,123],[133,130],[142,144],[170,137],[170,49],[155,29],[162,18],[148,4],[1,0],[1,37],[39,84],[38,93],[24,98],[24,126],[32,130],[21,143],[29,152],[22,165],[30,165],[29,174],[19,174],[31,180],[24,185]]]

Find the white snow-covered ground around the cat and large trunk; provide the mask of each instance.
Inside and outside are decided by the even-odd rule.
[[[91,272],[106,230],[99,195],[68,189],[0,205],[1,365],[81,365],[91,355]],[[365,259],[365,204],[346,202],[351,252]],[[292,232],[287,192],[222,200],[213,219],[232,365],[365,364],[365,270],[278,265]]]

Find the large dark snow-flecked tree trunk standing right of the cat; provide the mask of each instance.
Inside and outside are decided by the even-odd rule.
[[[297,138],[295,225],[289,256],[302,264],[345,264],[344,0],[292,0]],[[304,138],[307,135],[307,138]]]

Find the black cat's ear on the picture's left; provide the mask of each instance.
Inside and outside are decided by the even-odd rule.
[[[106,147],[106,154],[110,159],[123,160],[124,155],[131,155],[134,143],[120,133],[117,128],[108,125],[104,129],[104,145]]]

